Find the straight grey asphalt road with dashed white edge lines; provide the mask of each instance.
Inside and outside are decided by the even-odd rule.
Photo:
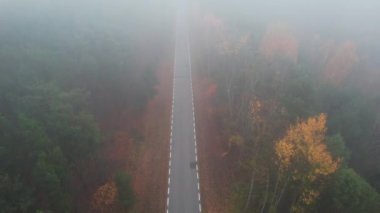
[[[201,212],[190,46],[184,10],[179,9],[173,76],[167,212]]]

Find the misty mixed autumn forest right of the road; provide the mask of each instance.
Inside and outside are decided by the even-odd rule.
[[[192,4],[206,211],[379,211],[378,9]]]

